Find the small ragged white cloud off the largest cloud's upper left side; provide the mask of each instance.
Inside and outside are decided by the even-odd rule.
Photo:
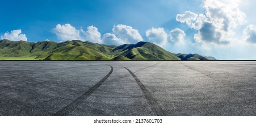
[[[187,25],[191,25],[192,21],[197,19],[197,14],[194,12],[186,11],[184,14],[177,14],[176,21],[180,21],[182,23],[186,23]]]

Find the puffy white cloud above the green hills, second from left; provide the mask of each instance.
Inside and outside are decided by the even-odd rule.
[[[83,32],[83,30],[77,30],[75,27],[71,26],[70,24],[65,25],[56,25],[54,29],[52,29],[52,32],[55,33],[59,40],[67,41],[67,40],[82,40],[82,37],[80,36],[80,32]]]

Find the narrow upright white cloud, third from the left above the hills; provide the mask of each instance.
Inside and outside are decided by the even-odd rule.
[[[90,42],[102,43],[101,33],[93,25],[87,27],[87,31],[84,32],[84,35],[86,36],[86,40]]]

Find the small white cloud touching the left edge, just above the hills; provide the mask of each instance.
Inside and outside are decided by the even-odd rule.
[[[11,41],[28,40],[25,34],[21,34],[21,29],[13,30],[11,33],[4,33],[4,36],[1,36],[1,39],[8,39]]]

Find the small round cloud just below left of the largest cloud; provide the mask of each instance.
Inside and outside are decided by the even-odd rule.
[[[173,29],[170,32],[170,40],[173,42],[183,42],[185,36],[185,32],[179,28]]]

